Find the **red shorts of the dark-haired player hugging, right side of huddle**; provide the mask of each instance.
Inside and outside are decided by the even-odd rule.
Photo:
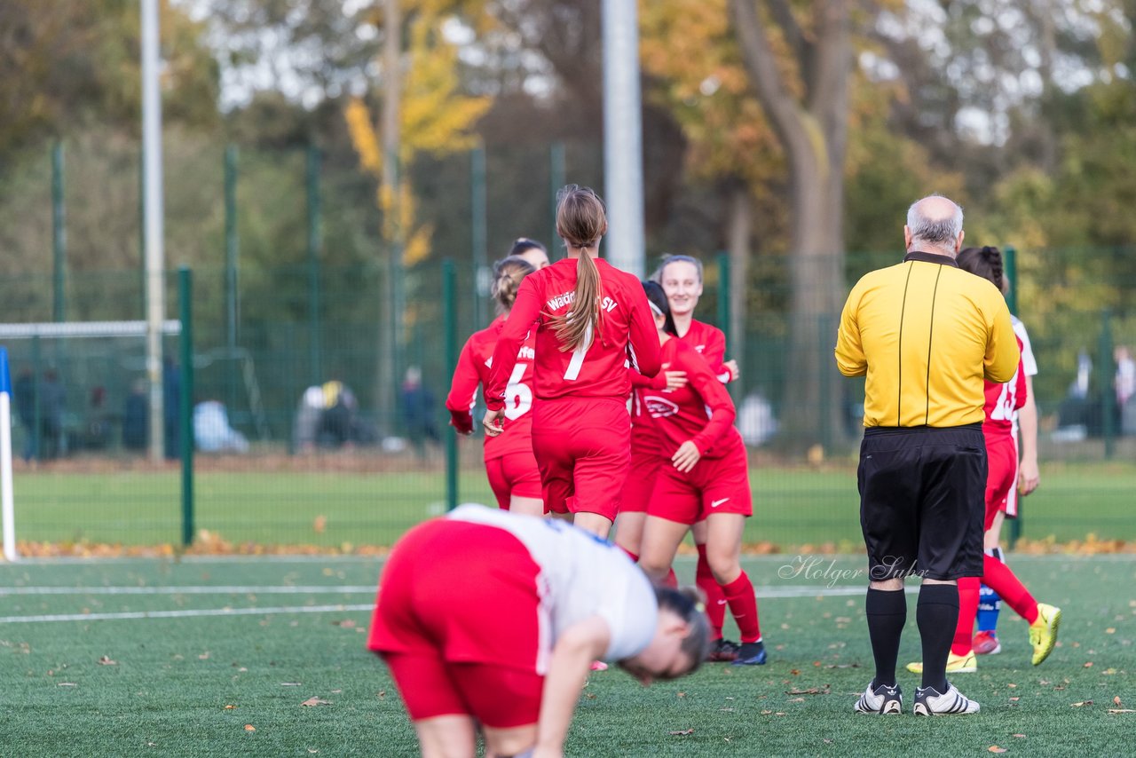
[[[661,463],[646,509],[649,516],[694,524],[713,514],[753,515],[750,472],[741,441],[721,458],[702,458],[685,474],[669,459]]]

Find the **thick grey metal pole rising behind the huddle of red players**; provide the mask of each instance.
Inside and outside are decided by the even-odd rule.
[[[636,0],[603,0],[603,172],[607,258],[643,275],[643,114]]]

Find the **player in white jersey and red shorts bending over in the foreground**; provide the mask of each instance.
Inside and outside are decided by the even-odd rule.
[[[391,669],[423,756],[562,755],[595,658],[643,684],[699,667],[694,594],[652,588],[621,550],[556,519],[465,505],[383,567],[367,647]]]

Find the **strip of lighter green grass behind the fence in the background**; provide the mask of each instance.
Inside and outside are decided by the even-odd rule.
[[[745,541],[859,550],[852,467],[753,468],[754,517]],[[178,474],[70,474],[48,467],[15,477],[17,535],[35,541],[177,543]],[[445,508],[441,470],[398,473],[206,472],[195,477],[195,527],[231,542],[342,547],[391,544]],[[1024,534],[1059,541],[1136,540],[1136,465],[1052,465],[1025,499]],[[484,470],[462,470],[460,500],[492,503]]]

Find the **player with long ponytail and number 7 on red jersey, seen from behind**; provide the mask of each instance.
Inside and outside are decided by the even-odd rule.
[[[630,464],[628,364],[659,372],[659,340],[643,288],[599,258],[608,231],[603,201],[569,184],[557,202],[557,232],[568,257],[520,283],[493,351],[485,390],[485,432],[501,434],[504,392],[526,335],[536,333],[533,452],[544,508],[573,514],[607,536]]]

